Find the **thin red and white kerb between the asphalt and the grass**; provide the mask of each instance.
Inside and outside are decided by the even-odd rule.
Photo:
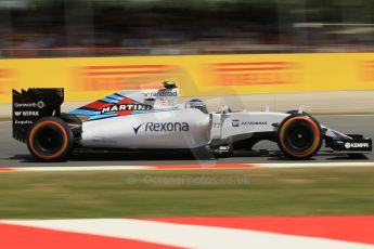
[[[109,171],[109,170],[185,170],[185,169],[241,169],[241,168],[323,168],[374,167],[374,162],[294,162],[294,163],[195,163],[154,166],[76,166],[76,167],[0,167],[0,172],[27,171]]]

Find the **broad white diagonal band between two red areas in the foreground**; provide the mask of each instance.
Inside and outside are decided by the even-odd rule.
[[[172,224],[132,219],[3,221],[56,231],[136,239],[182,248],[288,248],[369,249],[373,246],[325,238],[312,238],[249,230]]]

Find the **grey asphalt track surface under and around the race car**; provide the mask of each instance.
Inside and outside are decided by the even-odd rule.
[[[374,137],[374,115],[341,115],[315,116],[320,123],[344,133],[359,133]],[[257,148],[278,149],[276,144],[261,142]],[[321,148],[318,156],[306,162],[356,162],[374,161],[374,154],[364,157],[350,158],[345,154],[331,154]],[[191,163],[266,163],[266,162],[295,162],[279,156],[230,157],[210,160],[196,159],[194,155],[145,155],[145,154],[103,154],[74,156],[66,162],[42,163],[36,161],[28,153],[25,144],[12,139],[12,124],[9,121],[0,122],[0,168],[1,167],[38,167],[38,166],[153,166],[153,165],[191,165]]]

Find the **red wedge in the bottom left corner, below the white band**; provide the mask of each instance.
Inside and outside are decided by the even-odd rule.
[[[0,248],[9,249],[160,249],[176,248],[165,245],[114,237],[61,232],[29,226],[0,224]]]

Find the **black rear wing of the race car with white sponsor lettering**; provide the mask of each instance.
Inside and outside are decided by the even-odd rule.
[[[38,88],[22,90],[13,89],[13,137],[26,141],[28,129],[42,117],[61,115],[64,102],[64,89]]]

